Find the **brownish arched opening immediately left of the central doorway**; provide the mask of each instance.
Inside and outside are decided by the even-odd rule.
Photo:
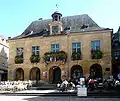
[[[38,67],[33,67],[30,69],[29,79],[36,81],[40,80],[40,69]]]

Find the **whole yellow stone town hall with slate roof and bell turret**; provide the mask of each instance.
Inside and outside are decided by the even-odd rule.
[[[87,14],[37,20],[9,40],[9,80],[79,79],[111,75],[112,30]]]

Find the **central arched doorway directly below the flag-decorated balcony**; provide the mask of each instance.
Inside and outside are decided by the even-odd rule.
[[[61,69],[58,66],[52,66],[49,69],[49,82],[58,83],[61,82]]]

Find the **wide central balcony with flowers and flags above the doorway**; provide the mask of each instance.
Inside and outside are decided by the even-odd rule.
[[[44,59],[44,62],[47,64],[51,62],[57,62],[57,61],[66,62],[67,54],[64,51],[46,52],[44,54],[43,59]]]

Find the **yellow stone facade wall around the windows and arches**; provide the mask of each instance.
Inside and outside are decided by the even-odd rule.
[[[59,66],[62,70],[67,73],[67,78],[70,78],[71,67],[74,65],[80,65],[83,69],[84,76],[88,77],[90,67],[97,63],[100,64],[104,75],[110,75],[111,68],[111,34],[112,30],[104,31],[94,31],[94,32],[83,32],[83,33],[71,33],[67,35],[58,36],[47,36],[47,37],[33,37],[33,38],[23,38],[16,40],[9,40],[10,56],[9,56],[9,68],[8,70],[15,71],[17,68],[22,68],[24,70],[24,80],[29,80],[29,72],[33,67],[38,67],[40,69],[41,80],[49,81],[49,70],[52,66]],[[103,52],[102,59],[91,59],[91,41],[100,40],[100,47]],[[72,54],[72,43],[81,42],[81,52],[82,60],[71,60]],[[67,62],[53,62],[50,64],[44,63],[43,56],[45,52],[51,51],[51,44],[59,44],[60,50],[67,53]],[[32,46],[40,46],[40,62],[31,63],[30,56],[32,54]],[[24,63],[15,64],[14,59],[16,56],[16,48],[24,48]],[[110,68],[110,72],[105,72],[105,68]],[[48,77],[44,78],[42,72],[48,71]],[[14,80],[14,73],[8,72],[8,79]]]

